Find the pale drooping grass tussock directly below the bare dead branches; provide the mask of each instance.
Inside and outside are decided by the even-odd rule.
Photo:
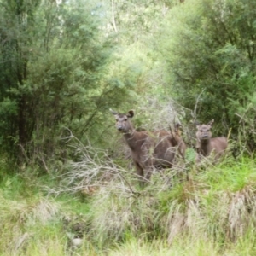
[[[125,241],[127,236],[157,233],[160,229],[157,203],[152,195],[127,193],[114,183],[102,187],[91,203],[90,237],[103,247],[113,241]]]

